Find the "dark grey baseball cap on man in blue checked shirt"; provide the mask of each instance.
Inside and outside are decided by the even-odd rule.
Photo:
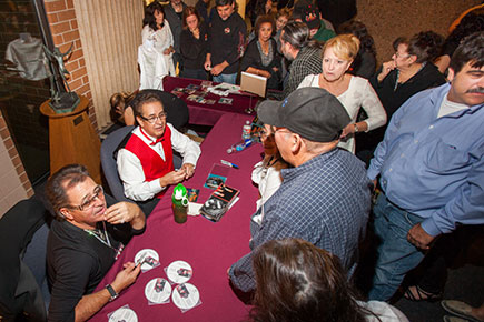
[[[352,121],[338,99],[320,88],[297,89],[284,101],[266,100],[257,114],[266,124],[287,128],[314,142],[338,139]]]

